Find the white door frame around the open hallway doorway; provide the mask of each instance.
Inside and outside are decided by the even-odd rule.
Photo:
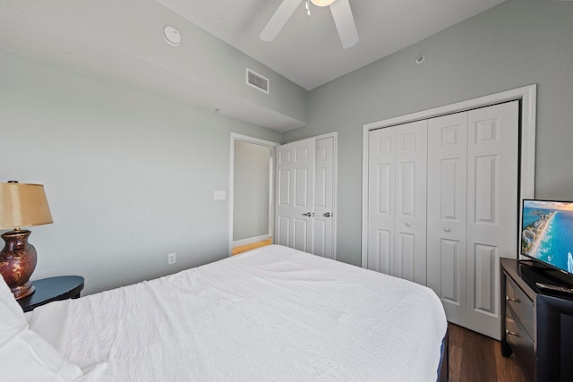
[[[231,132],[231,149],[230,149],[230,171],[229,171],[229,251],[228,256],[233,255],[233,203],[234,203],[234,190],[235,190],[235,141],[243,141],[247,143],[252,143],[255,145],[266,146],[271,150],[272,157],[270,158],[271,164],[274,164],[275,150],[274,148],[279,145],[277,142],[271,142],[270,140],[261,140],[259,138],[249,137],[248,135],[237,134]],[[270,169],[270,198],[269,198],[269,233],[272,234],[273,222],[274,222],[274,179],[272,179],[272,174],[274,174],[274,168]]]

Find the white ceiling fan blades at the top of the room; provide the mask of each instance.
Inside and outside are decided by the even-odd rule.
[[[308,2],[308,0],[306,1]],[[286,21],[295,13],[296,7],[302,2],[303,0],[283,0],[265,29],[262,30],[261,36],[259,36],[261,40],[267,42],[274,40],[278,32],[285,26]],[[330,6],[330,13],[332,13],[332,18],[337,27],[342,47],[346,49],[355,46],[359,38],[348,0],[311,0],[311,2],[317,6]]]

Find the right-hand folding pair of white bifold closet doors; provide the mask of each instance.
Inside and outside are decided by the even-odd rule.
[[[428,286],[450,322],[500,339],[500,257],[517,254],[518,102],[428,124]]]

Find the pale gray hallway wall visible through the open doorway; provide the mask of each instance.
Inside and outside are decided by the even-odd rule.
[[[269,234],[270,149],[235,140],[233,240]]]

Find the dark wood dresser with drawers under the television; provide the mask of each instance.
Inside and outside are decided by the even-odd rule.
[[[531,262],[500,259],[501,353],[515,353],[531,381],[573,380],[573,294],[535,283],[560,284]]]

